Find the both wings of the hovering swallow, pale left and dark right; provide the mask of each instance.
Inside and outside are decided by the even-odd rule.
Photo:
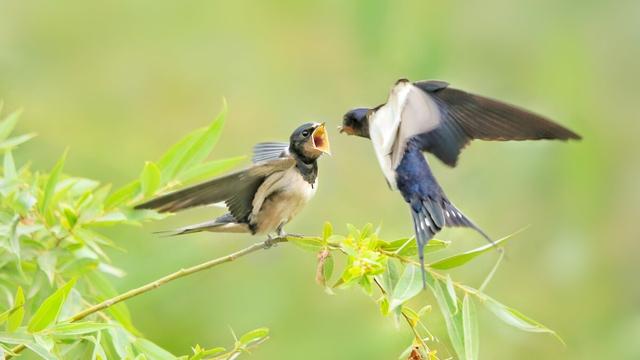
[[[473,139],[580,139],[553,121],[497,100],[453,89],[443,81],[399,80],[387,102],[369,115],[370,137],[382,172],[395,189],[395,169],[407,144],[455,166]]]

